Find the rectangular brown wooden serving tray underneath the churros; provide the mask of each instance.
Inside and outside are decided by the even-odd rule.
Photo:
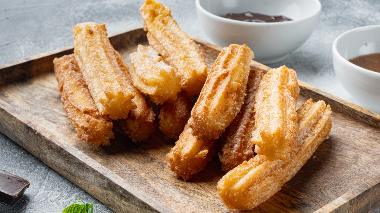
[[[220,47],[192,37],[211,66]],[[130,65],[141,27],[110,36]],[[73,46],[0,67],[0,131],[116,212],[236,212],[216,189],[225,174],[215,157],[190,182],[174,177],[166,154],[174,141],[159,132],[134,144],[116,134],[109,147],[76,137],[60,100],[53,59]],[[269,67],[252,61],[255,69]],[[380,115],[299,81],[300,106],[308,98],[333,110],[332,129],[282,190],[252,212],[369,212],[380,207]]]

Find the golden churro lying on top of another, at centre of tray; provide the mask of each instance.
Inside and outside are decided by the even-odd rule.
[[[252,58],[245,44],[223,48],[191,110],[188,124],[194,136],[218,139],[236,117],[244,102]]]

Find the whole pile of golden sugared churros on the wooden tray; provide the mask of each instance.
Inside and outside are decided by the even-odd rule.
[[[246,45],[223,48],[208,70],[205,53],[168,6],[145,0],[140,11],[149,46],[138,45],[130,67],[105,25],[93,22],[74,26],[74,53],[54,59],[77,136],[98,147],[110,145],[114,124],[133,142],[158,127],[166,140],[177,140],[166,156],[175,177],[188,181],[218,154],[227,174],[217,188],[228,208],[250,210],[266,201],[328,137],[331,108],[310,99],[296,110],[296,72],[251,70]],[[157,115],[151,104],[160,106]]]

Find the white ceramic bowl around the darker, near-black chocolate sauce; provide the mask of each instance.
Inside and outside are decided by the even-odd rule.
[[[321,11],[319,0],[196,0],[202,29],[217,45],[247,44],[261,63],[285,59],[310,37]],[[292,21],[256,23],[222,18],[228,13],[283,15]]]

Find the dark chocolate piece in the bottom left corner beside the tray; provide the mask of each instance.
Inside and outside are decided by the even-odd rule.
[[[0,169],[0,203],[12,206],[29,185],[26,179]]]

